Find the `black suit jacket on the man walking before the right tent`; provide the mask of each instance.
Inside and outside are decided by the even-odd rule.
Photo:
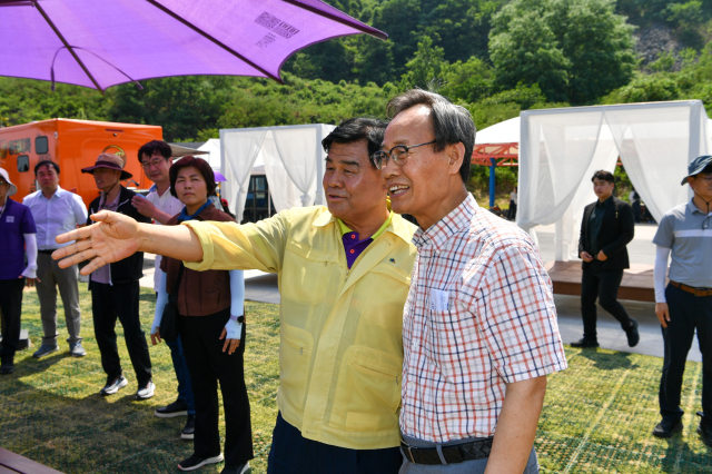
[[[635,235],[635,223],[631,205],[613,197],[613,206],[610,206],[601,223],[599,231],[599,245],[607,259],[605,261],[584,261],[582,268],[593,270],[622,270],[631,267],[625,246],[633,240]],[[597,201],[596,201],[597,203]],[[596,203],[591,203],[583,211],[581,223],[581,237],[578,238],[578,255],[582,251],[591,254],[591,243],[589,241],[589,220]],[[592,254],[593,255],[593,254]],[[593,255],[595,257],[595,255]]]

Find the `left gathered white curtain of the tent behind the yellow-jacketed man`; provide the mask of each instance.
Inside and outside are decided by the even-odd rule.
[[[225,195],[228,203],[235,203],[235,216],[243,221],[249,176],[253,164],[263,147],[266,130],[231,131],[220,130],[222,175],[228,179]]]

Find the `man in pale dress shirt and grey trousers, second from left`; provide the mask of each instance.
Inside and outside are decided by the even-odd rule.
[[[82,357],[81,310],[79,309],[79,270],[77,265],[60,268],[51,257],[52,251],[69,245],[57,244],[55,237],[82,227],[87,223],[87,206],[81,197],[59,186],[59,165],[44,160],[34,166],[34,178],[40,190],[24,197],[22,204],[30,208],[37,226],[37,296],[44,336],[39,349],[32,354],[40,358],[59,350],[57,345],[57,288],[65,305],[65,322],[69,333],[69,352]]]

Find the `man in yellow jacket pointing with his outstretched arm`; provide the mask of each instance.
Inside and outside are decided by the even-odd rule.
[[[55,258],[82,273],[150,251],[187,268],[279,275],[279,414],[268,473],[396,473],[403,307],[415,226],[393,214],[370,155],[384,122],[343,122],[323,141],[325,207],[284,210],[256,224],[138,225],[100,213],[101,224]]]

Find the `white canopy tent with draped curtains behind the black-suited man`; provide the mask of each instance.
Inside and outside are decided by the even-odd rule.
[[[621,157],[631,182],[660,220],[690,198],[688,164],[712,151],[700,100],[528,110],[521,113],[517,224],[556,224],[556,260],[577,257],[583,208],[595,200],[591,176]]]

